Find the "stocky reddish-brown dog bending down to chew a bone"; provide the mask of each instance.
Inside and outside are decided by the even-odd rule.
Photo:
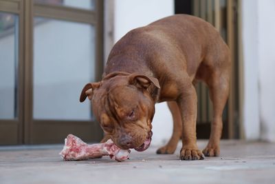
[[[113,46],[103,79],[88,83],[80,101],[91,99],[96,119],[122,149],[143,151],[151,142],[155,103],[168,101],[173,135],[158,154],[173,154],[180,137],[181,160],[219,155],[221,115],[230,85],[230,51],[210,23],[175,15],[128,32]],[[210,89],[214,115],[210,140],[197,147],[197,94],[194,83]]]

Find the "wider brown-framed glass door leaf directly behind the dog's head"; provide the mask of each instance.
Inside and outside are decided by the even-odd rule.
[[[67,134],[99,141],[90,102],[79,102],[87,82],[100,79],[100,1],[33,1],[32,63],[28,79],[28,143],[62,143]]]

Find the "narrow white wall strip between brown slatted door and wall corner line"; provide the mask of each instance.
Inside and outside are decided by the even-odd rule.
[[[243,130],[245,139],[259,139],[259,52],[257,0],[243,0]]]

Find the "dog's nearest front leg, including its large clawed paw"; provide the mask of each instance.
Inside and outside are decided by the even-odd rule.
[[[204,155],[197,147],[196,121],[197,121],[197,94],[192,83],[185,85],[181,90],[177,103],[182,120],[182,148],[179,158],[181,160],[203,160]]]

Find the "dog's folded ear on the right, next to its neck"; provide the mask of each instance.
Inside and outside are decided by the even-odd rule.
[[[155,85],[155,88],[160,88],[159,81],[156,78],[144,74],[131,74],[129,76],[129,83],[136,85],[137,88],[147,89],[151,84]]]

